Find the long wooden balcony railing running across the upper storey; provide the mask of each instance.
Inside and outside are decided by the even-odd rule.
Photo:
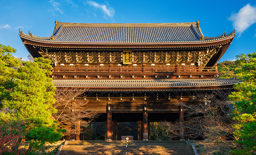
[[[205,75],[217,74],[214,67],[55,67],[53,75]]]

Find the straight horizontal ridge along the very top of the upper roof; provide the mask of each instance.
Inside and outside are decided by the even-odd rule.
[[[194,27],[199,26],[197,22],[187,23],[66,23],[55,20],[55,28],[64,27]]]

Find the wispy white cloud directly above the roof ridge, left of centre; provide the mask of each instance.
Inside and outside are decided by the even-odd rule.
[[[89,4],[96,9],[99,8],[103,12],[103,14],[104,14],[103,18],[105,18],[105,19],[107,19],[107,16],[108,16],[108,18],[112,18],[113,15],[115,14],[115,11],[112,7],[107,8],[107,5],[99,4],[95,1],[87,1],[85,4]]]

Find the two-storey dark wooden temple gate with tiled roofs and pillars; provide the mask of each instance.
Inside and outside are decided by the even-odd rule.
[[[20,38],[33,57],[52,60],[55,87],[86,88],[84,109],[101,113],[106,140],[117,140],[119,120],[138,122],[138,140],[149,140],[150,121],[182,121],[180,103],[238,83],[217,78],[216,65],[235,31],[204,37],[199,21],[55,24],[51,37]]]

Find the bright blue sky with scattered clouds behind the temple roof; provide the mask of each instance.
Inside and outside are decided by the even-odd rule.
[[[235,28],[237,35],[221,61],[256,51],[256,1],[251,0],[1,0],[0,44],[17,49],[26,60],[19,28],[28,34],[50,37],[54,20],[76,23],[196,22],[204,36],[215,37]]]

